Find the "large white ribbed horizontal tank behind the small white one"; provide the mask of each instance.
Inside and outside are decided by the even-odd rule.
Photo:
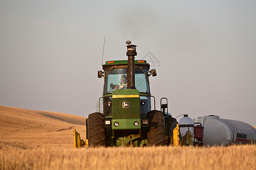
[[[205,146],[227,146],[256,141],[256,129],[242,121],[222,119],[214,115],[197,117],[193,121],[204,126]]]

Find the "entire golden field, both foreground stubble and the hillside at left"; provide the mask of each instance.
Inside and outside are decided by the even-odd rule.
[[[256,146],[73,148],[85,117],[0,106],[1,169],[256,169]]]

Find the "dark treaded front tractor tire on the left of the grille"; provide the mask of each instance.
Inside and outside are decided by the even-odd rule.
[[[104,114],[92,113],[88,117],[88,144],[89,147],[106,146],[106,132]]]

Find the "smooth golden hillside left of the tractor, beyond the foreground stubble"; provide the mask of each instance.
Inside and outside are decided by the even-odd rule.
[[[72,148],[73,128],[85,138],[85,117],[0,106],[0,149]]]

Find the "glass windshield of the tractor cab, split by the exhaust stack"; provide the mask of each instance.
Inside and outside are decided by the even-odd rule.
[[[117,89],[125,89],[127,88],[127,69],[113,69],[109,72],[109,70],[105,70],[105,73],[108,73],[108,76],[105,78],[104,84],[104,94],[112,93]],[[143,69],[144,73],[147,75],[147,70]],[[147,78],[143,73],[142,69],[135,69],[135,87],[139,92],[150,93],[149,85],[147,82]]]

